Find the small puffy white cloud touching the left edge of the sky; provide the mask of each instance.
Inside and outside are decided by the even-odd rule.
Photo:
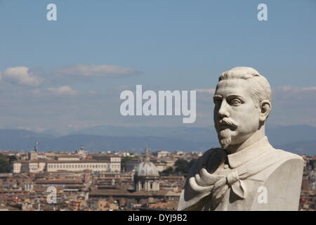
[[[39,86],[43,81],[40,77],[35,76],[29,68],[24,66],[6,68],[6,70],[1,72],[1,78],[5,82],[18,86]]]

